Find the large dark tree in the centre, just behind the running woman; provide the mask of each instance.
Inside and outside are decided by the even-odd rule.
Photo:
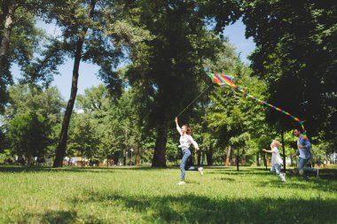
[[[198,1],[139,1],[140,23],[154,35],[130,51],[132,86],[146,86],[153,98],[149,123],[156,128],[153,166],[166,166],[169,124],[199,93],[203,62],[214,58],[222,40],[207,30]]]

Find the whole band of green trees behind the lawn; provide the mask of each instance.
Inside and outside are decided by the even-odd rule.
[[[1,150],[62,166],[67,155],[117,159],[132,148],[138,161],[144,155],[166,166],[179,157],[173,119],[212,72],[236,74],[253,95],[305,120],[323,159],[336,148],[336,7],[312,0],[2,0]],[[256,43],[251,66],[222,34],[239,18]],[[45,34],[36,20],[55,24],[60,35]],[[65,101],[51,81],[67,58],[74,69]],[[77,96],[84,61],[100,67],[105,86]],[[16,84],[14,64],[21,69]],[[259,163],[260,150],[281,135],[293,152],[296,124],[231,89],[211,89],[180,120],[201,143],[199,163],[229,163],[235,153]]]

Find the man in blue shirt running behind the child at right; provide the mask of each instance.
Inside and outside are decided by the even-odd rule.
[[[308,138],[304,138],[301,130],[295,128],[294,135],[298,138],[297,139],[297,151],[293,155],[293,157],[298,156],[297,161],[297,168],[300,175],[304,174],[304,171],[314,172],[316,177],[318,177],[318,169],[307,167],[310,163],[310,159],[312,158],[311,155],[311,143],[309,142]]]

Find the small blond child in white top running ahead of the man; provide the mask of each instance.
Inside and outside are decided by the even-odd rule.
[[[271,153],[271,169],[270,171],[276,173],[279,179],[282,182],[286,182],[286,174],[281,173],[281,166],[282,166],[282,158],[279,155],[278,147],[282,144],[279,143],[277,140],[274,140],[270,143],[270,151],[263,149],[264,152]]]

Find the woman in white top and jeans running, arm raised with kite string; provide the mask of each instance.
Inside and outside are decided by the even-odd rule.
[[[193,138],[192,138],[192,129],[191,127],[188,127],[187,125],[183,125],[183,127],[179,127],[178,125],[178,119],[176,118],[176,130],[180,134],[180,145],[179,148],[182,149],[183,151],[183,158],[180,164],[180,170],[181,170],[181,176],[180,176],[180,182],[178,182],[179,185],[184,185],[184,175],[185,175],[185,166],[188,158],[191,157],[191,151],[190,151],[190,146],[193,144],[194,149],[196,151],[199,151],[199,146],[198,143],[196,143]],[[196,167],[196,166],[190,166],[187,170],[192,170],[192,171],[199,171],[199,173],[202,175],[203,173],[203,168],[202,167]]]

